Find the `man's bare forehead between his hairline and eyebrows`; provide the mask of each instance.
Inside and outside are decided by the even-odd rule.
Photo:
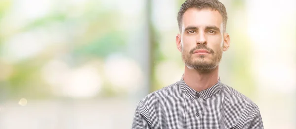
[[[216,26],[222,29],[220,26],[222,23],[222,15],[217,10],[213,10],[211,8],[189,8],[182,17],[183,29],[188,26]]]

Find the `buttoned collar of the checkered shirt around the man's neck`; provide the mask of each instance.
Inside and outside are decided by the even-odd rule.
[[[215,95],[220,89],[221,89],[221,86],[222,86],[222,83],[220,82],[220,78],[218,79],[218,82],[206,89],[206,90],[203,90],[201,92],[197,92],[195,91],[194,89],[192,89],[191,87],[189,87],[185,81],[183,80],[183,76],[181,77],[180,81],[179,81],[179,84],[180,84],[180,88],[181,90],[188,96],[190,97],[192,100],[195,98],[195,97],[201,97],[203,99],[207,99],[209,97],[212,97],[213,95]]]

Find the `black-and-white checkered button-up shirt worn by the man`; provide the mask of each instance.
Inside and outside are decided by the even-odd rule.
[[[259,108],[218,82],[201,92],[180,81],[139,102],[132,129],[264,129]]]

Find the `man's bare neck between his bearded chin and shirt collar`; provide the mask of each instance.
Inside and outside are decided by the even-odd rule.
[[[201,72],[195,69],[189,69],[185,66],[183,80],[185,83],[195,91],[206,90],[215,85],[219,79],[219,66],[208,72]]]

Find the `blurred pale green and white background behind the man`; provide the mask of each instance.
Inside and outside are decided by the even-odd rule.
[[[0,0],[0,129],[130,129],[138,101],[182,76],[184,1]],[[296,1],[221,2],[221,81],[266,129],[295,129]]]

